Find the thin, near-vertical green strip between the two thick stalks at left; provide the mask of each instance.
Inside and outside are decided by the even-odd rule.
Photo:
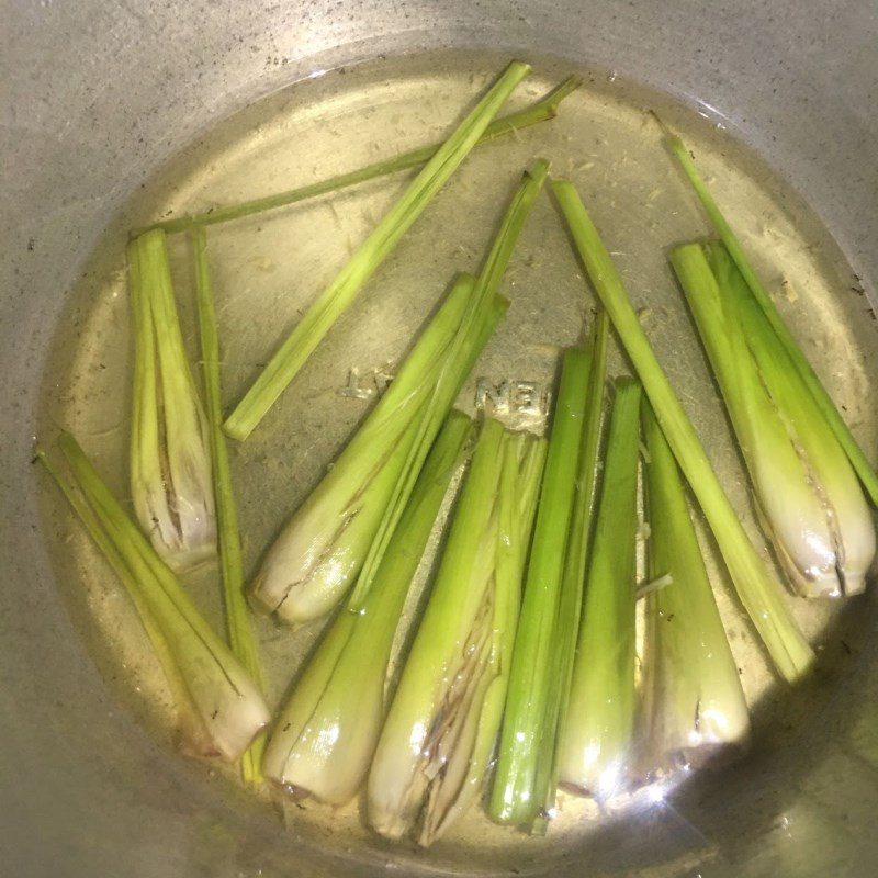
[[[260,691],[266,684],[259,661],[247,600],[244,596],[244,566],[238,532],[238,509],[232,488],[232,469],[223,435],[223,404],[219,379],[219,338],[216,331],[213,286],[207,264],[207,234],[203,228],[193,233],[195,254],[195,292],[199,312],[199,338],[204,375],[211,458],[213,460],[213,493],[219,542],[219,570],[223,577],[223,601],[226,631],[232,652],[244,665]],[[241,775],[246,784],[260,784],[266,739],[259,735],[241,756]]]

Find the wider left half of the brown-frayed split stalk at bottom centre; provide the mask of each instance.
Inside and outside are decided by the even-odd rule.
[[[414,826],[434,783],[449,773],[463,776],[497,674],[492,652],[504,446],[502,425],[486,420],[372,761],[369,823],[392,838]]]

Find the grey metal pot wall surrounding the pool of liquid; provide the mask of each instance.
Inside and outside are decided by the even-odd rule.
[[[65,292],[123,201],[216,119],[315,67],[489,46],[618,69],[721,113],[810,203],[869,295],[878,282],[878,8],[863,0],[5,5],[2,871],[466,874],[379,843],[350,848],[331,834],[280,831],[269,809],[234,790],[218,796],[201,766],[170,756],[116,708],[56,588],[30,466],[42,367]],[[873,337],[878,356],[878,331]],[[870,595],[856,611],[874,619],[875,604]],[[485,868],[874,874],[878,639],[866,639],[844,668],[803,693],[804,719],[768,735],[721,789],[684,789],[641,820],[610,825],[588,849],[549,845],[516,863],[498,852]]]

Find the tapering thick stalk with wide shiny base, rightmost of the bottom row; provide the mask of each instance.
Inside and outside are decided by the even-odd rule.
[[[650,577],[643,741],[648,773],[724,762],[750,740],[750,713],[689,518],[679,470],[649,405],[643,428]]]

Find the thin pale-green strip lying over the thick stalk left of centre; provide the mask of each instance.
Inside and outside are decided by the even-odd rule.
[[[446,364],[443,365],[443,372],[454,368],[460,351],[465,345],[470,326],[474,320],[479,319],[479,315],[486,303],[493,301],[496,296],[500,281],[506,273],[506,268],[515,250],[515,246],[518,243],[518,237],[530,214],[533,202],[542,189],[548,172],[549,162],[545,161],[545,159],[537,159],[522,175],[521,182],[518,184],[506,209],[499,230],[482,266],[473,297],[469,303],[469,311],[464,315],[458,334],[451,342],[451,349]],[[441,381],[442,379],[440,378],[440,382]],[[438,429],[441,417],[441,398],[437,392],[427,404],[427,410],[421,417],[418,428],[418,436],[408,452],[403,472],[394,488],[391,503],[386,507],[375,539],[369,549],[369,555],[363,565],[362,575],[357,582],[357,588],[352,598],[354,604],[369,590],[371,578],[381,561],[381,555],[386,548],[390,534],[393,532],[399,515],[402,515],[408,494],[414,485],[414,480],[424,462],[424,457],[432,441],[432,436],[435,436]]]

